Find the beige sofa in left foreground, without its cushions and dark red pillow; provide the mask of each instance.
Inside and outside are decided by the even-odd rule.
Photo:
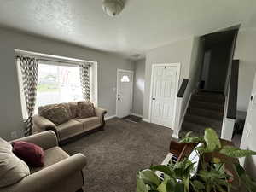
[[[30,168],[31,174],[0,192],[76,192],[84,185],[83,154],[69,156],[58,147],[53,131],[44,131],[15,141],[34,143],[44,149],[44,167]]]

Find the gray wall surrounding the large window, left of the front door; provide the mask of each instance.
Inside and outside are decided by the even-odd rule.
[[[98,62],[98,105],[115,114],[117,68],[133,70],[133,61],[118,55],[85,49],[47,38],[33,37],[21,32],[0,29],[0,137],[10,139],[10,132],[22,134],[20,91],[15,66],[14,49],[23,49],[49,55],[61,55]]]

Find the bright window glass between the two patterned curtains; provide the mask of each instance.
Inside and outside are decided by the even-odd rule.
[[[83,100],[79,77],[77,66],[39,64],[36,109],[48,104]]]

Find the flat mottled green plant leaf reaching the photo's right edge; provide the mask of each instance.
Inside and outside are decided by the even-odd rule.
[[[251,150],[243,150],[240,148],[235,148],[232,146],[224,146],[220,151],[220,154],[225,154],[229,157],[235,157],[235,158],[239,158],[239,157],[245,157],[245,156],[249,156],[249,155],[256,155],[255,151],[251,151]]]

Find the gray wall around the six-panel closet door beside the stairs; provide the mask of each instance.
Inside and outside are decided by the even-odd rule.
[[[160,48],[152,49],[146,54],[145,94],[143,104],[143,119],[149,118],[149,96],[152,65],[158,63],[181,63],[179,84],[184,78],[189,78],[190,59],[194,38],[187,38]]]

